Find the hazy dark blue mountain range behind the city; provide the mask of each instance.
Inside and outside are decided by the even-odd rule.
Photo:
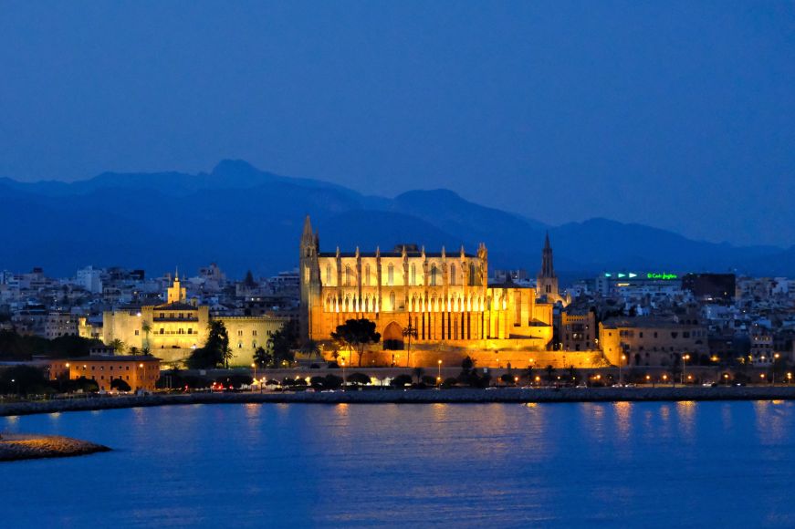
[[[795,275],[795,247],[712,244],[605,219],[553,227],[448,190],[365,196],[259,171],[245,161],[221,161],[199,174],[106,172],[71,183],[0,179],[0,269],[40,265],[51,275],[73,275],[91,264],[160,274],[215,261],[235,276],[249,268],[274,274],[297,265],[307,213],[326,251],[405,242],[474,250],[484,242],[492,267],[534,274],[549,231],[561,273],[623,268]]]

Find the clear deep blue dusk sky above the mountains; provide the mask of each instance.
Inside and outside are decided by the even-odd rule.
[[[269,171],[795,244],[793,2],[0,2],[0,175]]]

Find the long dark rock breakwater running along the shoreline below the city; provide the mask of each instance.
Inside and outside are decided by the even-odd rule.
[[[244,403],[434,404],[490,402],[612,402],[654,400],[791,400],[795,386],[561,388],[561,389],[363,389],[334,392],[184,393],[54,399],[0,404],[0,416],[60,411],[113,410],[144,406]]]

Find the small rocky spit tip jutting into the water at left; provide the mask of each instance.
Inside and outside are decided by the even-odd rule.
[[[110,451],[107,446],[80,441],[59,435],[26,435],[6,433],[0,438],[0,462],[70,457],[98,451]]]

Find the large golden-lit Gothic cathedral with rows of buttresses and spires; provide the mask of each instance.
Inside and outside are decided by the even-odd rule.
[[[459,356],[497,352],[502,363],[517,356],[526,364],[526,353],[546,350],[552,338],[552,304],[537,299],[535,288],[511,281],[488,284],[485,244],[474,254],[463,247],[450,254],[444,247],[426,252],[415,244],[400,244],[391,252],[356,248],[343,253],[338,247],[323,253],[308,216],[299,261],[301,336],[331,346],[337,326],[370,319],[382,336],[371,347],[373,363],[399,363],[410,335],[412,365],[435,365],[441,353],[451,351]],[[558,299],[557,278],[545,294]]]

